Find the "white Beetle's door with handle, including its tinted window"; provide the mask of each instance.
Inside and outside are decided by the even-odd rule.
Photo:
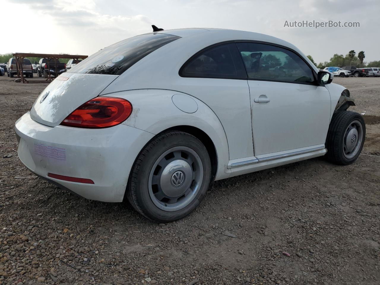
[[[331,99],[295,52],[271,44],[237,43],[248,74],[253,149],[257,158],[323,148]]]

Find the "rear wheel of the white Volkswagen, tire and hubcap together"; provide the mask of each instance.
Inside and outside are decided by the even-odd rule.
[[[154,138],[131,170],[127,197],[142,215],[172,222],[201,203],[211,179],[211,161],[199,139],[182,131]]]

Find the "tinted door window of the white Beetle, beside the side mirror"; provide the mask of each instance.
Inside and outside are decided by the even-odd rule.
[[[297,54],[261,43],[237,43],[248,78],[293,83],[314,83],[312,69]]]

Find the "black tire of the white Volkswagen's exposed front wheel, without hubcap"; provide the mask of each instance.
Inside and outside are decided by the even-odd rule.
[[[344,143],[347,141],[346,131],[353,123],[361,125],[361,135],[360,132],[358,132],[359,134],[356,134],[357,141],[355,142],[355,148],[353,149],[355,150],[355,153],[352,152],[348,155]],[[359,157],[360,152],[363,149],[365,138],[366,125],[360,114],[351,111],[339,111],[334,113],[331,118],[326,138],[326,156],[328,160],[338,165],[348,165],[353,163]],[[360,144],[358,145],[359,141]],[[350,155],[353,155],[353,157],[350,157]]]

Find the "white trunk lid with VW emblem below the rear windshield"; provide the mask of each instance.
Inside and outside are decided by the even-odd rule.
[[[30,109],[36,122],[55,127],[76,108],[97,97],[117,75],[62,73],[38,96]]]

